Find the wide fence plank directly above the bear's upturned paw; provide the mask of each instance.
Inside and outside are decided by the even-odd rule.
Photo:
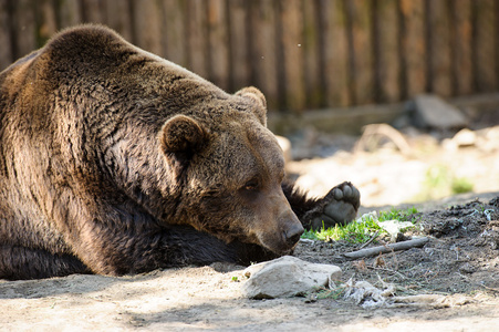
[[[341,0],[319,0],[321,9],[321,68],[325,103],[330,107],[347,106],[350,93],[346,9]]]

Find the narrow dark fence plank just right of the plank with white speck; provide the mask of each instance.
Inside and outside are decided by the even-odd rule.
[[[320,20],[321,8],[316,1],[303,1],[303,65],[306,107],[324,106],[321,68]]]

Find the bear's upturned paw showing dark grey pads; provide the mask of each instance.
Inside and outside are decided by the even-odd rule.
[[[357,215],[361,206],[361,193],[351,183],[343,183],[332,188],[328,195],[318,200],[318,205],[304,216],[310,228],[318,230],[344,225]]]

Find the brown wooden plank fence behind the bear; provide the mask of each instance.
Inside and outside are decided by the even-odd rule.
[[[0,69],[58,30],[100,22],[271,110],[496,91],[496,0],[0,0]]]

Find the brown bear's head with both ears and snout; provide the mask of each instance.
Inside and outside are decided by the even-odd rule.
[[[281,188],[284,158],[266,127],[263,94],[246,87],[215,107],[209,121],[175,115],[159,135],[166,160],[183,181],[180,222],[288,253],[303,227]]]

